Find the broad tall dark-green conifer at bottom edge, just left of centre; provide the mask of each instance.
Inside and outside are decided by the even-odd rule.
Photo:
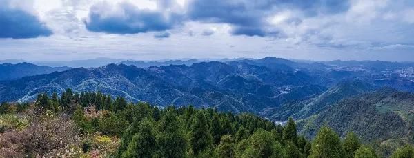
[[[166,111],[161,118],[158,131],[160,131],[157,135],[159,157],[186,157],[188,140],[184,126],[175,111]]]

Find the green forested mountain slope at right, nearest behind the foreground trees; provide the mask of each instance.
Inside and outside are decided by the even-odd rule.
[[[382,88],[375,92],[344,99],[317,115],[300,120],[299,131],[314,137],[324,125],[342,137],[354,131],[363,141],[403,139],[413,141],[414,95]]]

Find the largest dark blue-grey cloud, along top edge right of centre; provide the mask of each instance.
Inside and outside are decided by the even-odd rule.
[[[317,14],[337,14],[349,8],[344,0],[191,0],[188,5],[188,17],[204,23],[228,23],[233,26],[233,35],[266,36],[266,17],[283,9],[300,10],[305,17]],[[300,22],[301,19],[292,19]]]

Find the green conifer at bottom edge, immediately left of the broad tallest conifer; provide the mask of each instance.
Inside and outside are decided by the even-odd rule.
[[[132,137],[122,157],[153,157],[157,144],[154,123],[148,119],[141,121],[137,134]]]

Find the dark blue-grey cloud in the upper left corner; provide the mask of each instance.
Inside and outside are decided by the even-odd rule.
[[[26,39],[49,36],[52,31],[39,19],[19,8],[0,2],[0,38]]]

